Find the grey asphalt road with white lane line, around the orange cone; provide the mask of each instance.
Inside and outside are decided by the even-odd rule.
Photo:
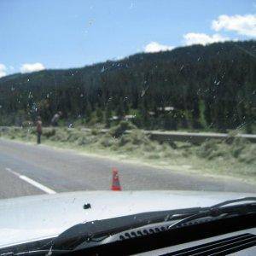
[[[0,198],[110,189],[118,168],[124,190],[184,189],[256,192],[256,186],[0,139]]]

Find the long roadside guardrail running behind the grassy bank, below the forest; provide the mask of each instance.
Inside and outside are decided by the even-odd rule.
[[[9,126],[0,126],[0,131],[9,130]],[[22,129],[22,127],[15,127],[16,129]],[[45,127],[44,129],[48,129]],[[68,128],[73,129],[73,128]],[[91,131],[90,128],[81,128],[81,131]],[[108,129],[100,130],[102,133],[108,132]],[[130,133],[131,131],[126,131]],[[145,134],[160,143],[163,142],[189,142],[189,143],[202,143],[209,139],[232,139],[228,133],[214,133],[214,132],[185,132],[185,131],[144,131]],[[235,137],[246,138],[251,143],[256,143],[256,134],[237,134]]]

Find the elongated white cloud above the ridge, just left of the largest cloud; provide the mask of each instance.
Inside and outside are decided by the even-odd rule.
[[[212,44],[212,43],[217,43],[217,42],[224,42],[227,40],[230,40],[230,38],[223,37],[222,35],[219,34],[214,34],[212,36],[209,36],[205,33],[194,33],[190,32],[185,35],[183,35],[184,41],[186,45],[191,45],[191,44]]]

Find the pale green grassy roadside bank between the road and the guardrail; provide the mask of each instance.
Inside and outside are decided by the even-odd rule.
[[[125,134],[127,129],[131,130],[130,134]],[[10,128],[2,131],[0,136],[25,142],[36,141],[33,128]],[[181,142],[160,144],[150,140],[135,126],[122,122],[104,134],[97,130],[47,128],[44,129],[42,142],[177,172],[239,177],[256,183],[256,144],[241,138],[209,140],[201,145]]]

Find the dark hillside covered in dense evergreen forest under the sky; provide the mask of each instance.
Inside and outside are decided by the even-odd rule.
[[[40,115],[111,125],[134,115],[147,129],[245,126],[256,119],[256,41],[193,45],[131,55],[89,67],[14,74],[0,79],[0,125]],[[170,108],[172,107],[172,108]]]

